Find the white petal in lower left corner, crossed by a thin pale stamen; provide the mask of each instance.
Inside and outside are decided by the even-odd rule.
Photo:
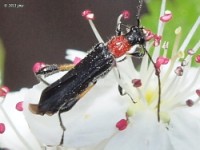
[[[5,124],[6,130],[0,135],[1,147],[8,149],[40,149],[40,145],[32,135],[24,115],[15,107],[23,100],[27,89],[19,92],[8,93],[6,98],[0,104],[1,122]]]

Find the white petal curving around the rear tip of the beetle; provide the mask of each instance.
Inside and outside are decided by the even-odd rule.
[[[60,78],[65,72],[54,74],[45,80],[52,83]],[[62,135],[62,129],[58,119],[58,114],[53,116],[40,116],[33,114],[29,110],[29,104],[38,104],[43,89],[46,88],[44,83],[39,83],[30,89],[24,98],[24,115],[33,134],[41,143],[47,145],[58,145]]]

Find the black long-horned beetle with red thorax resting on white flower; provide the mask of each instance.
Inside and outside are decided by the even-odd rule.
[[[69,111],[95,85],[99,78],[107,75],[115,67],[117,59],[125,56],[133,46],[139,45],[143,51],[129,52],[129,54],[136,57],[144,55],[145,33],[144,29],[140,27],[139,20],[141,7],[142,0],[139,1],[136,26],[127,27],[118,22],[116,35],[106,43],[96,44],[77,65],[46,65],[35,73],[39,80],[46,83],[48,87],[42,92],[38,105],[30,104],[30,110],[40,115],[58,112],[60,125],[63,129],[61,145],[63,144],[65,127],[62,124],[60,114]],[[122,33],[122,27],[128,30],[127,33]],[[52,84],[48,84],[41,77],[64,70],[69,71]]]

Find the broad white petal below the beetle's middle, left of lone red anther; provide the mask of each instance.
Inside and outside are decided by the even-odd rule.
[[[112,136],[117,131],[116,123],[126,118],[126,103],[118,94],[117,88],[100,88],[97,85],[92,90],[80,101],[85,103],[88,99],[92,99],[92,104],[73,122],[69,123],[67,119],[63,119],[67,127],[64,138],[66,146],[95,145]],[[77,108],[82,109],[81,104],[77,104],[72,111]],[[65,114],[62,118],[67,117]]]

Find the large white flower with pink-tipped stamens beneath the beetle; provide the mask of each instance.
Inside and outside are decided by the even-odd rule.
[[[146,30],[146,38],[149,40],[146,43],[147,54],[140,68],[134,66],[129,57],[123,62],[117,62],[120,77],[114,77],[116,68],[113,68],[113,71],[105,78],[99,79],[70,111],[61,114],[66,127],[62,146],[59,145],[62,128],[58,114],[40,116],[29,110],[30,104],[39,103],[41,92],[46,85],[39,83],[26,91],[24,115],[31,132],[40,144],[31,134],[29,135],[33,139],[28,138],[28,141],[35,141],[38,149],[45,147],[66,150],[198,150],[200,69],[191,66],[191,59],[200,48],[200,41],[188,51],[187,45],[199,28],[200,17],[180,48],[178,43],[181,28],[175,30],[172,56],[167,58],[169,43],[162,41],[162,33],[166,22],[172,19],[172,13],[165,11],[165,1],[160,16],[158,33],[153,34]],[[88,17],[93,19],[94,15]],[[91,20],[89,23],[94,28]],[[172,33],[173,31],[169,31],[169,34]],[[97,39],[103,41],[99,35]],[[149,56],[148,52],[152,50]],[[187,54],[184,56],[186,51]],[[72,60],[72,57],[74,56],[66,58]],[[200,62],[199,57],[196,57],[197,63]],[[65,73],[54,74],[45,78],[45,81],[52,83]],[[124,96],[119,94],[118,84],[124,89]],[[5,102],[1,105],[3,113],[2,106]],[[3,117],[4,122],[11,118],[6,115]],[[10,121],[8,122],[10,124]],[[18,134],[18,130],[15,132],[20,137],[21,133]],[[6,137],[5,133],[2,135]],[[23,141],[22,146],[25,143],[24,147],[27,148],[27,138],[20,137],[20,140]],[[2,142],[3,146],[7,146],[6,142]],[[29,147],[32,148],[31,145]]]

